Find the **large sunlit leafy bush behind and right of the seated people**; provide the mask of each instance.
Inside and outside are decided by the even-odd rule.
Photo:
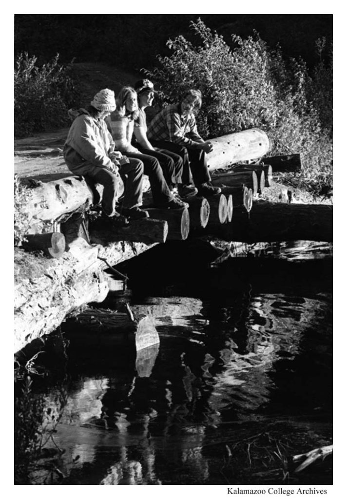
[[[183,36],[168,40],[170,56],[157,56],[159,67],[144,70],[160,88],[160,104],[178,102],[188,88],[200,89],[197,115],[202,136],[259,127],[272,143],[269,155],[300,153],[301,179],[317,176],[332,182],[332,70],[322,58],[310,76],[303,60],[285,62],[281,49],[270,51],[255,34],[232,35],[231,49],[201,19],[191,23],[200,38],[193,45]],[[318,42],[321,52],[322,40]],[[300,179],[299,179],[300,180]]]

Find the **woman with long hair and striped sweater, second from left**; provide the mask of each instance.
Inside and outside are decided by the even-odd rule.
[[[106,123],[115,147],[128,158],[138,159],[144,165],[144,173],[148,175],[151,185],[153,204],[157,208],[178,209],[188,207],[179,198],[173,196],[165,181],[163,171],[157,158],[142,154],[131,144],[134,120],[138,117],[137,94],[132,87],[123,87],[116,99],[117,109],[113,111]]]

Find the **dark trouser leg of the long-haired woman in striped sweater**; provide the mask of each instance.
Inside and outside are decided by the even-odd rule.
[[[171,201],[172,195],[165,182],[159,161],[147,154],[126,153],[126,155],[128,158],[135,158],[142,161],[144,166],[143,173],[149,177],[154,204],[162,205]]]

